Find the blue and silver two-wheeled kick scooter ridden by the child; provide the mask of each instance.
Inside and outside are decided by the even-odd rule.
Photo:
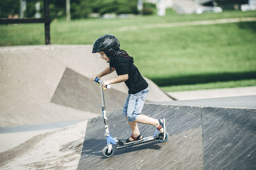
[[[105,125],[105,136],[106,136],[106,140],[107,140],[107,146],[105,146],[104,149],[102,150],[102,153],[105,157],[111,157],[114,154],[113,145],[116,147],[116,150],[118,150],[118,149],[122,149],[122,148],[127,148],[129,146],[140,145],[142,143],[148,143],[150,141],[158,140],[159,142],[165,142],[168,140],[168,138],[169,138],[168,133],[166,132],[166,138],[163,139],[163,135],[158,130],[156,130],[154,132],[153,136],[148,136],[146,138],[143,138],[142,141],[138,141],[138,142],[134,142],[134,143],[126,144],[123,141],[119,141],[118,139],[113,138],[111,136],[111,134],[109,133],[109,129],[108,129],[108,118],[107,118],[107,114],[106,114],[106,105],[105,105],[105,101],[104,101],[104,91],[103,91],[105,87],[102,85],[103,81],[101,81],[99,78],[95,78],[94,81],[96,81],[100,85],[101,110],[102,110],[102,117],[103,117],[104,125]],[[107,85],[106,88],[109,89],[110,85]]]

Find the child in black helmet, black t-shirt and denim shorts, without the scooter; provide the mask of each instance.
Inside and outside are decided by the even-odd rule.
[[[141,76],[140,71],[134,66],[134,60],[125,50],[120,50],[118,39],[106,34],[98,38],[93,45],[93,53],[99,53],[100,58],[109,62],[109,67],[106,67],[101,73],[92,77],[101,78],[107,74],[116,71],[118,76],[111,80],[102,81],[102,86],[106,87],[114,83],[125,82],[129,89],[129,94],[123,107],[123,115],[129,123],[132,134],[130,138],[125,139],[124,144],[137,143],[143,141],[144,138],[140,133],[138,123],[156,126],[160,132],[159,136],[166,139],[166,121],[165,118],[156,119],[142,115],[141,111],[148,96],[148,83]]]

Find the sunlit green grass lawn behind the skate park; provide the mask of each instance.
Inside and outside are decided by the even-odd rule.
[[[167,14],[165,17],[59,20],[51,24],[51,43],[92,45],[103,34],[115,34],[120,39],[121,48],[134,57],[143,76],[152,79],[166,91],[189,90],[189,87],[193,90],[230,87],[225,81],[232,81],[232,87],[239,87],[240,81],[256,78],[256,22],[152,29],[143,27],[172,22],[256,17],[255,11],[177,15],[168,10]],[[120,27],[131,26],[138,29],[118,31]],[[44,24],[0,25],[0,32],[0,46],[44,44]],[[222,83],[214,83],[217,81]],[[201,85],[196,85],[198,83]],[[250,81],[245,86],[248,85],[256,85],[256,82]]]

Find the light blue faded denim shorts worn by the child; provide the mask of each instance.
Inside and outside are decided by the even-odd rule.
[[[144,90],[136,94],[129,94],[124,107],[123,107],[123,115],[128,118],[129,122],[133,122],[140,115],[144,103],[148,96],[148,87]]]

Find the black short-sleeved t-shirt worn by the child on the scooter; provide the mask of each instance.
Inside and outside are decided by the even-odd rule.
[[[148,87],[147,81],[141,76],[140,71],[134,66],[129,57],[116,55],[109,62],[110,67],[115,67],[116,73],[119,75],[128,74],[129,78],[125,81],[129,89],[129,94],[136,94]]]

